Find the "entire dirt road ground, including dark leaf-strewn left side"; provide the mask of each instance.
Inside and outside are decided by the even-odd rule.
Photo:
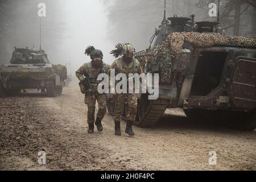
[[[134,127],[135,137],[122,122],[117,137],[109,114],[103,133],[86,133],[87,107],[76,84],[56,98],[28,93],[0,103],[1,170],[256,169],[256,131],[195,123],[181,110],[167,110],[154,128]],[[40,166],[42,150],[46,165]],[[216,151],[216,165],[209,165],[209,151]]]

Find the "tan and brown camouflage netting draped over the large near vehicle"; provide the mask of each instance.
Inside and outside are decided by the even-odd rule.
[[[160,75],[163,81],[172,76],[172,61],[178,59],[184,43],[193,47],[236,46],[243,48],[256,48],[256,38],[239,36],[225,36],[219,34],[205,34],[199,32],[175,32],[167,36],[166,40],[158,46],[152,47],[147,53],[148,64],[160,65]]]

